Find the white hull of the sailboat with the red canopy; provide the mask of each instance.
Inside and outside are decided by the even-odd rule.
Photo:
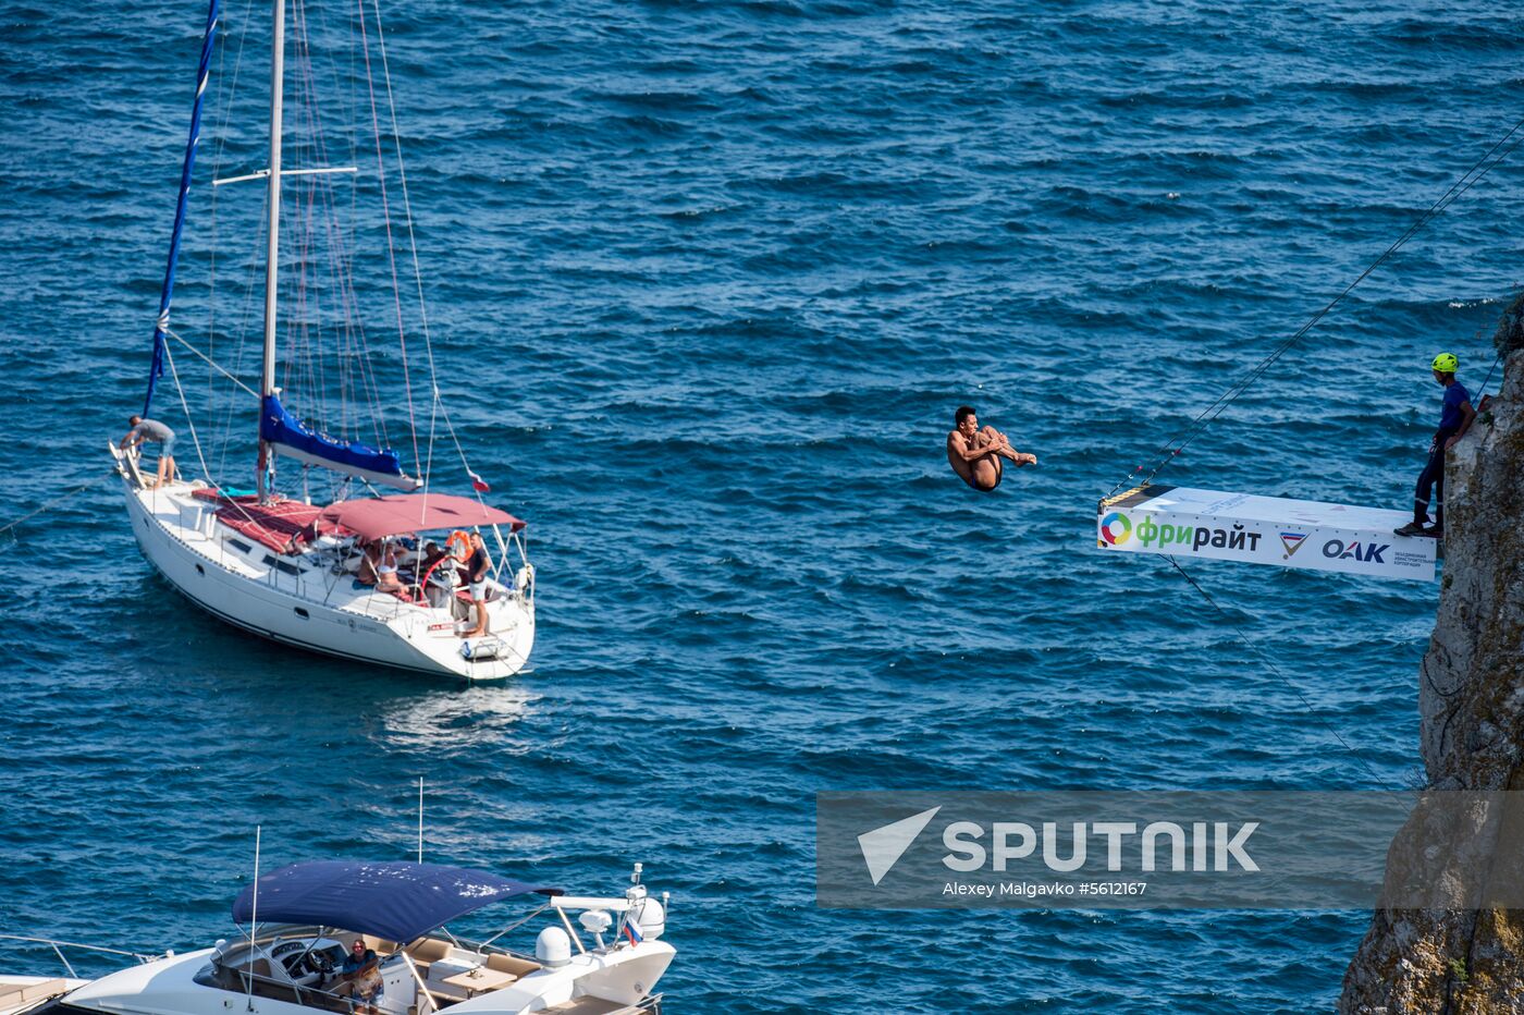
[[[126,471],[122,479],[133,535],[148,562],[186,599],[236,628],[311,652],[466,680],[501,680],[529,660],[532,581],[523,590],[495,587],[489,632],[469,643],[494,657],[471,660],[450,610],[404,604],[355,588],[351,576],[328,567],[282,558],[223,524],[215,506],[186,483],[152,489]]]

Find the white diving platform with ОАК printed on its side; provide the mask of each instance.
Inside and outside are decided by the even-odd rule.
[[[1100,501],[1096,546],[1433,581],[1439,540],[1393,533],[1411,520],[1384,507],[1145,485]]]

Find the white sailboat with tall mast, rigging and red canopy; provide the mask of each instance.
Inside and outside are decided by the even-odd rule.
[[[363,300],[357,296],[352,279],[357,256],[349,251],[347,244],[358,245],[355,236],[376,230],[370,224],[372,219],[367,219],[364,227],[351,227],[349,232],[332,223],[314,224],[311,213],[312,209],[326,207],[335,212],[344,207],[343,201],[334,200],[334,181],[364,180],[367,174],[361,172],[358,165],[282,165],[287,9],[293,14],[300,70],[296,82],[299,104],[294,107],[303,119],[299,126],[320,131],[314,113],[315,102],[305,102],[315,96],[314,79],[319,76],[312,73],[315,58],[306,29],[308,6],[312,6],[312,0],[271,3],[268,163],[244,175],[213,180],[216,186],[264,181],[265,187],[265,207],[259,226],[264,232],[264,332],[258,390],[238,376],[236,364],[229,369],[171,329],[169,308],[175,267],[201,139],[203,101],[219,27],[216,0],[212,0],[207,12],[190,136],[186,143],[169,264],[154,325],[148,395],[142,411],[145,419],[149,418],[155,381],[165,376],[168,366],[180,395],[180,408],[189,421],[195,457],[204,477],[184,480],[172,475],[163,483],[154,482],[139,468],[140,447],[131,442],[123,447],[123,442],[113,440],[110,451],[122,480],[133,535],[148,562],[171,585],[195,605],[244,631],[360,663],[468,680],[509,677],[526,664],[535,637],[535,572],[527,558],[524,523],[482,498],[491,488],[471,471],[434,378],[421,279],[416,297],[422,320],[422,344],[427,351],[427,390],[431,392],[431,399],[415,411],[415,389],[424,390],[425,386],[415,384],[410,373],[411,360],[405,346],[402,314],[407,287],[398,282],[401,244],[393,241],[389,216],[386,255],[392,265],[398,308],[398,338],[402,344],[401,379],[405,387],[415,453],[413,471],[419,474],[410,475],[402,456],[384,447],[381,440],[367,442],[358,436],[364,427],[370,427],[384,437],[386,421],[376,393],[383,383],[375,366],[378,357],[364,346],[363,325],[354,320],[355,308]],[[370,21],[372,11],[367,5],[357,6],[355,23],[360,29],[357,35],[363,34],[360,52],[364,58],[364,75],[357,75],[357,81],[358,87],[369,88],[369,119],[375,125],[376,137],[375,174],[369,180],[369,197],[379,197],[383,210],[389,212],[398,204],[395,198],[387,201],[389,175],[381,140],[384,110],[390,105],[390,73],[384,72],[386,50],[379,11],[375,9],[375,20]],[[351,11],[349,17],[357,15]],[[322,32],[314,29],[314,35]],[[372,72],[373,50],[379,52],[381,59],[376,62],[386,75],[379,84],[375,81],[378,75]],[[355,64],[358,66],[358,61]],[[236,73],[233,78],[236,81]],[[378,90],[383,96],[379,102]],[[383,113],[378,113],[378,108]],[[390,108],[395,110],[395,105]],[[413,250],[416,273],[411,206],[405,191],[407,177],[401,166],[401,145],[395,140],[395,134],[393,113],[393,166],[401,175],[401,207],[407,209],[407,239]],[[320,133],[317,137],[319,143],[294,148],[294,154],[322,158],[328,148]],[[283,215],[282,181],[293,180],[306,189],[296,192],[296,200],[288,201],[291,207],[285,209]],[[306,233],[290,242],[290,248],[285,250],[283,218],[297,224],[306,223]],[[331,238],[329,250],[337,264],[337,268],[322,276],[332,279],[326,290],[312,283],[312,279],[319,277],[319,270],[311,264],[312,251],[322,245],[323,236]],[[283,259],[294,276],[287,280],[285,290],[280,277]],[[253,274],[258,270],[256,264],[258,256],[250,267],[250,288],[256,285]],[[290,302],[293,290],[297,306],[285,311],[280,303],[282,293]],[[340,366],[337,370],[314,369],[302,361],[297,346],[311,349],[322,338],[325,323],[319,319],[319,311],[335,306],[343,311],[340,323],[331,326],[338,335],[338,344],[343,346]],[[207,331],[212,337],[212,328]],[[285,357],[280,355],[282,332],[287,337]],[[416,344],[413,360],[418,358]],[[207,465],[210,437],[203,439],[207,433],[204,425],[201,430],[197,428],[180,370],[175,369],[174,349],[178,346],[203,360],[207,376],[223,384],[232,398],[241,399],[223,415],[235,422],[247,421],[242,424],[247,430],[238,431],[245,434],[242,450],[236,439],[226,440],[235,445],[232,450],[235,465],[239,462],[255,465],[253,489],[239,488],[226,479],[223,482],[213,479],[213,469]],[[337,401],[325,401],[320,384],[296,396],[305,396],[305,402],[293,401],[293,393],[279,384],[282,367],[288,383],[311,383],[325,376],[347,378],[352,389],[370,398],[369,415],[355,410],[357,398],[340,396]],[[319,390],[311,390],[314,387]],[[319,418],[305,418],[306,410],[293,410],[294,405],[303,404]],[[395,402],[392,405],[395,411]],[[419,433],[419,425],[415,422],[418,418],[433,421],[427,434]],[[177,422],[178,419],[180,416],[175,416]],[[255,419],[258,425],[251,425]],[[460,451],[462,480],[469,482],[468,494],[433,489],[434,472],[442,471],[433,454],[439,421],[443,421],[456,450]],[[229,430],[235,430],[232,424]],[[171,439],[169,448],[172,447]],[[223,460],[227,457],[229,443],[224,442]],[[215,454],[212,460],[216,460]],[[276,474],[277,462],[293,466],[297,471],[297,482],[288,482],[282,488]],[[325,483],[326,495],[314,494],[314,488],[322,491]],[[472,575],[465,573],[468,565]]]

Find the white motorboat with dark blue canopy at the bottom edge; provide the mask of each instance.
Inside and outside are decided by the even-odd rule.
[[[640,873],[623,895],[593,898],[443,864],[291,864],[238,896],[236,937],[55,989],[24,1015],[658,1015],[655,985],[675,951],[660,940],[666,904]],[[445,927],[526,899],[530,911],[485,940]],[[500,943],[536,921],[533,951]],[[344,971],[357,942],[376,995],[357,997]]]

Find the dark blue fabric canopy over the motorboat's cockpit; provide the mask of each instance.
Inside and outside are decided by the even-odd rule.
[[[291,864],[261,876],[258,885],[261,922],[319,924],[399,943],[498,899],[562,895],[485,870],[357,860]],[[233,902],[233,921],[253,917],[255,885],[248,885]]]

